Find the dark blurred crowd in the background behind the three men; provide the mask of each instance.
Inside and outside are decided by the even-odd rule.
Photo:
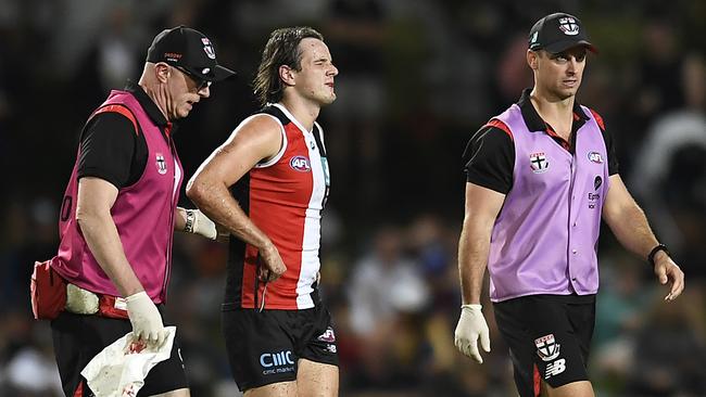
[[[579,101],[617,140],[620,174],[686,274],[684,295],[601,240],[590,372],[600,396],[706,396],[706,2],[699,0],[0,0],[0,396],[59,396],[48,323],[31,319],[34,260],[58,246],[78,133],[112,88],[141,72],[163,28],[204,31],[240,78],[181,123],[187,177],[256,111],[250,81],[269,31],[319,29],[340,75],[319,121],[332,172],[323,295],[336,321],[343,396],[512,396],[484,312],[482,366],[453,346],[461,154],[532,84],[527,31],[564,11],[600,49]],[[192,207],[182,194],[182,206]],[[225,245],[179,235],[167,322],[192,395],[236,396],[219,329]],[[487,295],[487,294],[486,294]]]

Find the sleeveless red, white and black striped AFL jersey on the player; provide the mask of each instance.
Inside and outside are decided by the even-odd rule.
[[[273,241],[287,271],[265,285],[256,277],[257,248],[230,239],[224,309],[307,309],[318,302],[320,220],[329,188],[324,136],[317,123],[307,131],[281,104],[251,117],[262,114],[281,125],[281,149],[234,184],[231,193]]]

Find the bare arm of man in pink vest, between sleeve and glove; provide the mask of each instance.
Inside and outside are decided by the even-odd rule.
[[[88,247],[105,274],[123,296],[143,291],[142,284],[125,257],[111,207],[117,197],[117,188],[92,177],[78,181],[76,220]]]

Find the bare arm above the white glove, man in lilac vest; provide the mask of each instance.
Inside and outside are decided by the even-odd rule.
[[[466,210],[458,242],[458,272],[464,305],[480,304],[490,235],[504,201],[502,193],[466,183]]]

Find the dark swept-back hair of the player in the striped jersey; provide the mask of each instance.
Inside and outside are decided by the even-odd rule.
[[[282,99],[285,87],[279,78],[279,66],[301,71],[302,51],[299,43],[310,37],[324,41],[322,34],[307,26],[285,27],[269,35],[253,80],[254,94],[263,106]]]

